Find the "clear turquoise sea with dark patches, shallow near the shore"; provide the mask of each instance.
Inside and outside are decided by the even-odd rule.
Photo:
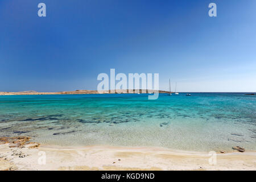
[[[244,93],[0,96],[1,137],[60,146],[256,150],[256,97]]]

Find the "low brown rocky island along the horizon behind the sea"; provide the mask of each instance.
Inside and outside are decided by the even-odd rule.
[[[52,95],[52,94],[112,94],[112,93],[123,93],[123,90],[115,90],[115,92],[111,92],[112,90],[103,91],[99,93],[97,90],[76,90],[76,91],[64,91],[64,92],[36,92],[34,90],[23,91],[23,92],[0,92],[0,96],[8,96],[8,95]],[[126,90],[127,93],[154,93],[155,90]],[[159,90],[159,93],[170,93],[164,90]]]

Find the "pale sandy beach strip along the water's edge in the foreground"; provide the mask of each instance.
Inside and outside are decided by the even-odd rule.
[[[1,170],[255,170],[256,152],[216,154],[155,147],[0,144]],[[45,162],[45,164],[44,164]]]

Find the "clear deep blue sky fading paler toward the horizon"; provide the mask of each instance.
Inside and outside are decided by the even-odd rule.
[[[256,92],[255,9],[255,0],[1,0],[0,91],[96,90],[98,74],[115,68],[159,73],[160,89],[171,78],[179,92]]]

